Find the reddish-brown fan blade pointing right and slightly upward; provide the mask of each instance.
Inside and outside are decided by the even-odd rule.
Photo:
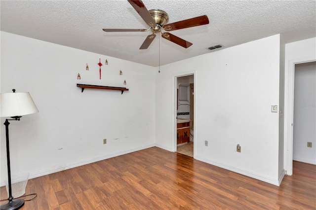
[[[208,17],[206,15],[202,15],[199,17],[182,20],[179,22],[165,24],[163,25],[163,30],[174,31],[178,29],[185,29],[185,28],[201,26],[201,25],[206,25],[206,24],[209,24]]]

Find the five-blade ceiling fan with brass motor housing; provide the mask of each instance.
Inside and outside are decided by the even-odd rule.
[[[184,48],[188,48],[192,45],[191,42],[186,41],[178,36],[168,33],[169,31],[185,29],[195,26],[206,25],[209,23],[206,15],[199,17],[182,20],[174,23],[168,22],[168,14],[165,11],[159,9],[147,10],[143,1],[141,0],[128,0],[128,2],[134,7],[137,13],[143,18],[143,20],[150,26],[149,29],[103,29],[105,32],[148,32],[151,30],[152,34],[148,35],[139,49],[147,49],[152,43],[157,33],[161,33],[161,37],[169,41],[172,41]],[[161,29],[167,31],[161,32]]]

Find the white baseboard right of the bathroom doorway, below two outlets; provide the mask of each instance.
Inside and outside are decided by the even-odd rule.
[[[273,184],[273,185],[276,185],[276,186],[279,186],[280,185],[280,182],[279,180],[277,179],[272,179],[270,177],[266,177],[266,176],[263,176],[263,175],[259,175],[259,174],[254,174],[252,172],[248,172],[248,171],[245,171],[245,170],[241,170],[241,169],[238,169],[238,168],[235,168],[235,167],[232,167],[232,166],[229,166],[229,165],[225,165],[225,164],[221,164],[221,163],[216,163],[216,162],[213,162],[213,161],[209,161],[209,160],[206,160],[202,157],[199,157],[199,156],[195,156],[195,158],[199,161],[202,161],[202,162],[205,162],[205,163],[208,163],[208,164],[211,164],[211,165],[214,165],[214,166],[218,166],[220,168],[223,168],[223,169],[227,169],[229,171],[232,171],[232,172],[236,172],[238,174],[241,174],[241,175],[246,175],[246,176],[249,176],[251,178],[255,178],[255,179],[258,179],[258,180],[261,180],[261,181],[264,181],[264,182],[268,182],[270,184]],[[283,171],[284,173],[284,171]],[[283,175],[284,176],[284,175]],[[283,177],[282,177],[283,178]],[[280,179],[280,177],[279,177]],[[280,179],[281,181],[282,179]]]

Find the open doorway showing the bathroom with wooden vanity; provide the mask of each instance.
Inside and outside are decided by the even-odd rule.
[[[177,152],[194,155],[194,75],[177,77]]]

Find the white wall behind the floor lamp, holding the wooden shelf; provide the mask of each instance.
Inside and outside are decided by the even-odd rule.
[[[102,66],[101,80],[99,58],[109,62]],[[81,93],[77,83],[129,91]],[[0,86],[1,93],[30,92],[40,110],[10,122],[12,174],[32,178],[155,145],[153,67],[1,32]],[[7,176],[4,120],[1,185]]]

